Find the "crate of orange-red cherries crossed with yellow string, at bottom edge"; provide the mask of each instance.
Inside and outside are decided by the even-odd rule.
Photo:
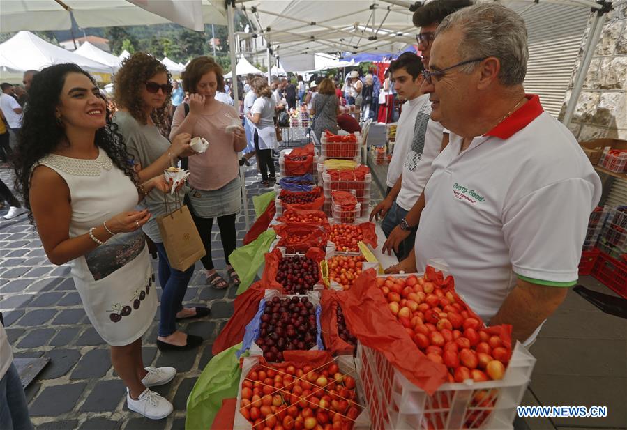
[[[278,364],[243,359],[234,430],[315,429],[334,422],[338,429],[370,429],[352,357],[287,351],[288,357]]]

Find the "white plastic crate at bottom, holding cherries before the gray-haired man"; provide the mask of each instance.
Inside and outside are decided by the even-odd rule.
[[[384,355],[358,345],[357,357],[376,373],[388,399],[387,429],[511,429],[536,359],[517,343],[505,376],[499,381],[444,383],[433,396],[410,383]],[[480,396],[481,402],[475,401]],[[483,405],[483,406],[480,406]]]

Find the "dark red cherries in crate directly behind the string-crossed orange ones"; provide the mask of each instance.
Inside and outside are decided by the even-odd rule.
[[[316,307],[306,297],[266,302],[257,346],[269,362],[282,362],[283,351],[308,350],[316,345]]]

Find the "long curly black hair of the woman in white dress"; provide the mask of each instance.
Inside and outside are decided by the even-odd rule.
[[[61,90],[63,90],[68,73],[82,73],[96,85],[93,77],[76,64],[57,64],[43,69],[33,77],[29,90],[29,102],[24,107],[22,128],[17,135],[17,148],[12,158],[15,168],[15,190],[24,199],[24,204],[29,210],[31,224],[33,224],[33,213],[29,192],[33,166],[45,155],[52,153],[66,137],[63,126],[56,121],[55,109],[59,105]],[[137,185],[133,166],[128,163],[126,145],[118,132],[118,126],[111,121],[108,105],[107,125],[96,131],[95,143]]]

